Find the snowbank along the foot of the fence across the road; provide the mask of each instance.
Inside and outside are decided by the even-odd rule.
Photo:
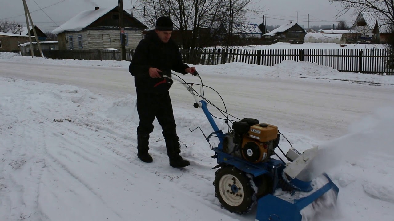
[[[74,60],[74,59],[42,59],[41,57],[19,56],[15,53],[8,54],[5,58],[7,61],[15,63],[34,63],[49,65],[78,65],[78,66],[102,66],[102,67],[119,67],[128,71],[129,61],[91,61],[91,60]],[[1,56],[1,54],[0,54]],[[0,57],[0,59],[2,59]],[[0,60],[1,61],[1,60]],[[256,64],[247,64],[233,62],[217,65],[191,65],[195,66],[199,73],[204,76],[245,76],[255,79],[262,77],[279,77],[279,78],[309,78],[309,79],[328,79],[339,81],[355,81],[357,83],[394,85],[394,76],[385,76],[378,74],[360,74],[350,72],[339,72],[334,68],[322,66],[318,63],[282,61],[275,66],[262,66]],[[242,70],[242,71],[240,71]]]

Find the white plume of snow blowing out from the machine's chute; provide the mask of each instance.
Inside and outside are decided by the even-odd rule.
[[[318,176],[344,162],[356,164],[359,159],[374,154],[394,155],[392,113],[394,107],[378,109],[372,115],[350,125],[349,134],[319,145],[318,154],[308,170]]]

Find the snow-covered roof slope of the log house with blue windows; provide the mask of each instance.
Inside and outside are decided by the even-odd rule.
[[[115,7],[82,11],[58,28],[54,29],[52,33],[58,35],[63,31],[81,31],[83,28],[86,28],[89,24],[92,24],[93,22],[95,22],[95,20],[99,19],[114,8]]]

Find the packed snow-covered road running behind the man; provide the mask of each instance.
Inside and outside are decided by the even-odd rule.
[[[115,99],[135,95],[134,79],[125,68],[48,64],[18,64],[16,68],[15,63],[4,62],[0,69],[2,77],[77,85]],[[302,130],[305,135],[323,140],[341,136],[350,122],[394,100],[393,87],[366,83],[199,72],[204,85],[223,97],[230,114],[260,119],[295,133]],[[199,83],[196,77],[181,77]],[[224,108],[215,92],[209,88],[204,91],[215,105]],[[175,106],[193,108],[193,99],[182,85],[173,85],[171,94]]]

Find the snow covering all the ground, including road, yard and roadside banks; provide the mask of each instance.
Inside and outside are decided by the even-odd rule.
[[[156,120],[154,162],[138,160],[128,64],[0,53],[0,220],[255,220],[255,210],[234,215],[220,208],[213,151],[201,132],[189,131],[212,128],[181,85],[173,85],[171,96],[187,145],[181,155],[191,165],[169,166]],[[299,151],[320,148],[315,172],[326,171],[340,191],[337,206],[313,220],[393,220],[394,76],[292,61],[195,66],[230,114],[278,125]],[[208,88],[205,95],[221,105]]]

